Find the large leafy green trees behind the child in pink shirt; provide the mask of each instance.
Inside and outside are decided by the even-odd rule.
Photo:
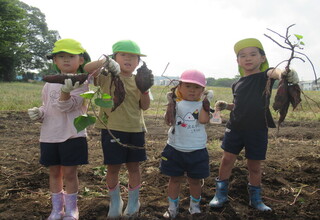
[[[46,54],[60,39],[45,15],[19,0],[0,0],[0,81],[13,81],[29,70],[50,71]]]

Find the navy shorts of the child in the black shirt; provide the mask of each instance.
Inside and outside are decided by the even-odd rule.
[[[265,160],[268,147],[268,129],[234,131],[226,129],[221,148],[238,155],[245,148],[245,157],[250,160]]]

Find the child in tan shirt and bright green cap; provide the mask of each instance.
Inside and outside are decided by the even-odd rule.
[[[121,146],[108,133],[108,130],[101,121],[97,121],[96,127],[101,129],[101,143],[104,154],[104,164],[107,165],[107,187],[110,196],[108,218],[122,216],[123,201],[120,195],[119,171],[122,164],[126,164],[129,173],[128,182],[128,204],[123,213],[125,217],[133,217],[138,214],[140,208],[139,190],[141,184],[140,162],[145,161],[145,124],[143,110],[150,105],[148,91],[141,92],[136,85],[133,72],[139,65],[140,57],[146,56],[140,53],[139,46],[131,40],[121,40],[112,46],[112,58],[106,57],[103,60],[93,61],[85,66],[88,72],[96,72],[94,83],[100,86],[103,93],[114,94],[114,74],[100,74],[99,68],[106,59],[109,59],[108,68],[116,73],[123,82],[125,88],[124,101],[114,110],[100,108],[99,115],[102,118],[107,116],[107,128],[126,145],[134,145],[140,149]],[[118,71],[120,66],[120,73]]]

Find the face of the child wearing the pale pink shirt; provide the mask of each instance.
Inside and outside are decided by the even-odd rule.
[[[61,73],[77,73],[79,66],[84,63],[84,58],[79,55],[61,52],[53,57],[53,62]]]

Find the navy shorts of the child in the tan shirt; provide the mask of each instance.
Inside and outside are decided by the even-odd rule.
[[[122,144],[143,147],[142,149],[123,147],[119,145],[108,133],[101,129],[101,143],[104,156],[104,164],[123,164],[128,162],[140,162],[147,159],[144,148],[144,132],[122,132],[111,130],[111,133]]]

